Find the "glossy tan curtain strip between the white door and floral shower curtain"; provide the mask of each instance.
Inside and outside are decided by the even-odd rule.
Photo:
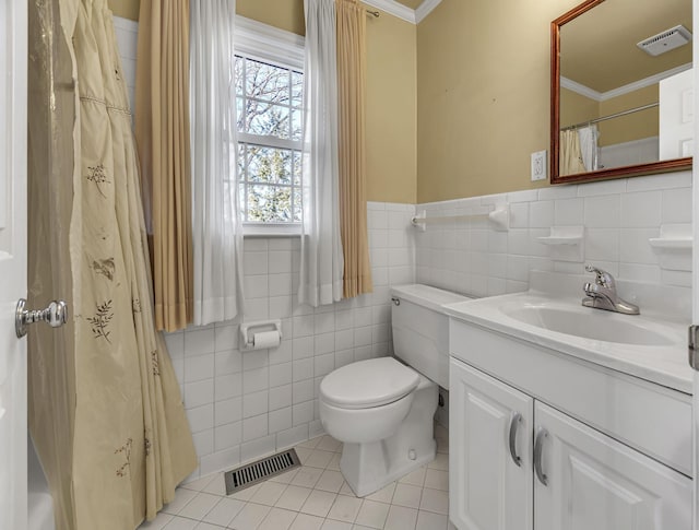
[[[72,212],[73,69],[58,2],[29,1],[27,301],[73,308],[69,227]],[[28,427],[54,498],[56,528],[74,528],[72,479],[75,422],[73,319],[59,328],[29,327]]]

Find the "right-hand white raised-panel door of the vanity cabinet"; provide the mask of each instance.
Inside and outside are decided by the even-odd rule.
[[[534,417],[536,530],[691,530],[688,478],[538,401]]]

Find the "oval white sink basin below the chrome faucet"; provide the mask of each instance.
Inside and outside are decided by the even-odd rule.
[[[648,321],[635,322],[633,319],[638,317],[616,315],[601,309],[546,304],[506,304],[500,310],[508,317],[530,326],[594,341],[648,346],[664,346],[676,342],[674,337],[649,329]]]

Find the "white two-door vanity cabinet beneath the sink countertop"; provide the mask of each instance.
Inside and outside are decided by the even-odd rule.
[[[457,319],[450,350],[458,529],[691,529],[689,396]]]

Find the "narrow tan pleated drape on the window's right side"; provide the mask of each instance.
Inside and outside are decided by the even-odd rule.
[[[366,201],[366,10],[357,0],[336,0],[337,106],[340,122],[340,232],[344,256],[343,296],[374,291]]]

